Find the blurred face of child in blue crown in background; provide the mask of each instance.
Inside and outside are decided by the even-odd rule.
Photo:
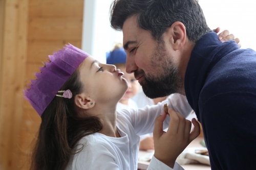
[[[127,80],[129,85],[121,100],[129,100],[139,92],[140,84],[138,80],[135,79],[134,73],[127,74],[125,71],[125,65],[119,66],[118,68],[124,73],[123,78]]]

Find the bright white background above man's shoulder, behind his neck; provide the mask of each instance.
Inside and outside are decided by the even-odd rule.
[[[256,1],[200,0],[210,29],[228,30],[240,39],[241,48],[256,50]]]

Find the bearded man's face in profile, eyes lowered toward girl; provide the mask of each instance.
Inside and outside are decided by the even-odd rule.
[[[146,96],[153,99],[180,92],[182,79],[174,56],[163,40],[158,42],[149,31],[139,28],[135,16],[124,22],[123,45],[126,72],[134,72]]]

